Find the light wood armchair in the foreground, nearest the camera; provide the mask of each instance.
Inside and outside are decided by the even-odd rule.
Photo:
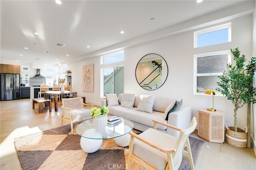
[[[178,138],[156,130],[156,124],[164,125],[167,128],[173,128],[180,131]],[[141,164],[146,169],[152,170],[177,170],[182,161],[182,155],[189,159],[191,169],[194,170],[190,143],[188,136],[196,128],[196,118],[193,117],[189,128],[180,129],[166,123],[154,120],[154,129],[149,128],[141,134],[129,132],[131,135],[128,169],[131,168],[131,162]],[[184,150],[187,147],[188,151]]]

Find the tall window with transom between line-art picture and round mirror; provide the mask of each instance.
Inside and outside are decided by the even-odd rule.
[[[102,90],[101,96],[106,93],[124,93],[124,51],[102,56]]]

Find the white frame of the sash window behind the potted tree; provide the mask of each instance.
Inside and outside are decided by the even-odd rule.
[[[208,56],[213,56],[213,55],[223,55],[223,54],[228,54],[228,63],[231,63],[231,51],[230,50],[225,50],[225,51],[216,51],[216,52],[211,52],[211,53],[202,53],[202,54],[195,54],[194,55],[194,83],[193,83],[193,94],[194,95],[206,95],[204,93],[199,93],[197,92],[197,77],[205,77],[205,76],[219,76],[222,75],[223,73],[197,73],[197,58],[199,57],[208,57]],[[217,83],[217,82],[216,82]],[[222,96],[221,93],[215,91],[215,95],[217,96]]]

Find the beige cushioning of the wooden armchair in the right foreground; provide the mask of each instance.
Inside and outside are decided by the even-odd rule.
[[[153,144],[161,146],[167,150],[171,150],[174,148],[177,138],[160,132],[158,130],[149,128],[145,132],[139,134],[141,138],[146,141],[149,141]],[[140,159],[148,162],[152,166],[157,169],[164,170],[168,163],[167,154],[161,152],[144,142],[134,138],[134,146],[133,146],[133,154],[138,156]],[[177,161],[174,160],[174,166],[176,165]]]

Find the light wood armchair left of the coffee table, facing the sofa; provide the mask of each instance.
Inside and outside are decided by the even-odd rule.
[[[62,114],[61,114],[61,127],[63,127],[63,121],[69,121],[71,126],[71,132],[73,134],[73,122],[85,118],[91,117],[91,110],[84,109],[84,106],[92,106],[90,104],[83,103],[81,97],[62,99]]]

